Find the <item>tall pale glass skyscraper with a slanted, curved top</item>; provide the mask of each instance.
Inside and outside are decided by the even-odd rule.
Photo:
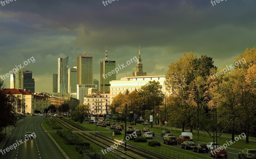
[[[68,92],[68,57],[58,58],[58,93]]]

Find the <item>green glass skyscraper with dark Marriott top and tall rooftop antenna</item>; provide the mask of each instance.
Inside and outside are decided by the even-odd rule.
[[[111,73],[116,68],[116,61],[108,61],[108,48],[106,48],[105,57],[104,61],[100,61],[100,91],[103,93],[109,91],[109,81],[116,80],[116,72]]]

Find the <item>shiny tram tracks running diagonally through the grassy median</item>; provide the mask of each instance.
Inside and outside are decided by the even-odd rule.
[[[55,120],[60,123],[61,125],[63,125],[64,127],[66,127],[67,129],[71,130],[71,131],[77,131],[77,130],[82,130],[82,131],[91,131],[89,129],[86,129],[84,127],[81,127],[73,122],[70,122],[64,118],[62,118],[62,120],[55,118]],[[109,136],[103,135],[101,133],[97,133],[98,136],[100,137],[100,139],[95,139],[95,133],[92,132],[81,132],[81,133],[77,133],[78,135],[80,135],[81,137],[83,137],[84,139],[87,139],[89,141],[91,141],[92,143],[95,143],[96,145],[106,149],[106,147],[102,146],[102,144],[104,144],[107,147],[110,147],[111,145],[118,144],[117,148],[124,148],[124,145],[117,143],[118,140],[111,138]],[[106,143],[108,142],[108,144]],[[120,141],[119,141],[120,142]],[[111,144],[110,144],[111,143]],[[139,151],[138,151],[139,150]],[[123,158],[146,158],[146,159],[166,159],[167,157],[164,157],[162,155],[150,152],[148,150],[142,149],[141,147],[136,147],[130,144],[127,144],[127,151],[122,151],[120,149],[116,149],[116,151],[121,152],[125,157]]]

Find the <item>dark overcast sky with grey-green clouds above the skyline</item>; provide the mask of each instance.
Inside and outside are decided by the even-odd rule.
[[[213,3],[214,4],[214,3]],[[106,5],[106,4],[105,4]],[[255,46],[255,0],[13,0],[0,4],[0,75],[25,66],[33,72],[36,92],[52,92],[57,61],[93,56],[93,76],[100,80],[100,61],[121,65],[138,56],[140,45],[147,75],[166,74],[183,52],[207,55],[221,68]],[[136,64],[117,74],[132,76]],[[10,77],[5,84],[10,88]]]

